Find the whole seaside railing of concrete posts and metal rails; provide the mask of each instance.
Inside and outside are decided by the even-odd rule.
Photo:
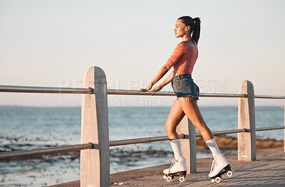
[[[91,84],[90,84],[91,82]],[[89,68],[83,80],[83,88],[78,87],[27,87],[27,86],[11,86],[0,85],[0,92],[33,92],[33,93],[63,93],[63,94],[83,94],[82,106],[82,124],[81,124],[81,144],[68,145],[68,146],[56,146],[45,149],[33,149],[24,151],[11,151],[0,154],[0,159],[11,159],[22,156],[33,156],[40,154],[55,154],[67,151],[80,151],[81,158],[87,158],[88,161],[97,163],[99,169],[90,169],[88,161],[81,159],[81,168],[87,168],[81,170],[81,182],[98,183],[92,181],[95,176],[100,178],[99,186],[106,186],[110,184],[109,176],[110,170],[107,166],[100,167],[100,161],[105,159],[105,164],[109,164],[109,154],[107,149],[109,146],[120,146],[127,144],[141,144],[154,141],[167,141],[167,136],[164,137],[147,137],[138,139],[123,139],[117,141],[108,141],[108,106],[106,101],[106,95],[152,95],[152,96],[175,96],[174,92],[140,92],[139,90],[115,90],[106,88],[105,73],[98,67]],[[244,90],[245,87],[245,90]],[[85,95],[96,95],[96,97],[90,97]],[[255,159],[255,132],[267,131],[275,129],[285,129],[284,126],[279,127],[262,127],[255,128],[255,116],[254,116],[254,99],[285,99],[285,96],[281,95],[254,95],[253,85],[249,81],[244,81],[240,85],[239,94],[216,94],[216,93],[201,93],[199,97],[235,97],[239,98],[239,129],[225,130],[213,132],[214,135],[222,134],[242,134],[238,137],[238,144],[243,144],[244,141],[250,141],[250,145],[240,148],[238,145],[238,158],[239,160],[254,160]],[[95,109],[89,109],[95,107]],[[107,112],[106,112],[107,111]],[[97,116],[97,117],[96,117]],[[187,117],[186,117],[187,118]],[[95,120],[95,124],[94,124]],[[107,124],[107,127],[105,127]],[[88,129],[90,126],[91,129]],[[187,171],[191,173],[196,172],[196,141],[193,137],[201,137],[201,134],[196,133],[190,120],[182,120],[180,122],[177,132],[180,133],[179,137],[182,139],[182,146],[186,147],[187,159]],[[92,131],[92,133],[90,133]],[[97,139],[94,139],[94,134],[97,134]],[[102,135],[103,134],[103,135]],[[90,150],[88,154],[86,151]],[[91,151],[99,150],[99,151]],[[249,156],[244,156],[249,154]],[[86,157],[87,155],[87,157]],[[90,156],[89,156],[90,155]],[[89,157],[88,157],[89,156]],[[248,159],[246,159],[248,158]],[[83,171],[86,173],[83,173]],[[93,176],[90,177],[90,173]],[[103,177],[103,178],[102,178]],[[84,186],[84,184],[83,184]]]

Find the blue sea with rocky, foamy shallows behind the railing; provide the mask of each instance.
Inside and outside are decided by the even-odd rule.
[[[200,107],[214,131],[237,129],[237,107]],[[170,107],[109,107],[109,139],[166,136]],[[256,107],[256,127],[284,125],[284,108]],[[228,136],[237,137],[237,134]],[[258,139],[284,139],[284,130],[257,132]],[[0,152],[81,143],[80,107],[0,107]],[[236,150],[222,150],[229,153]],[[197,151],[197,159],[209,157]],[[110,147],[110,173],[170,163],[168,141]],[[80,179],[80,152],[0,161],[0,186],[49,186]]]

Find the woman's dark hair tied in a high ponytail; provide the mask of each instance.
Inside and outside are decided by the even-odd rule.
[[[191,18],[190,16],[182,16],[178,19],[182,19],[183,23],[185,23],[186,26],[190,26],[191,31],[190,35],[192,33],[192,42],[197,46],[199,38],[200,38],[200,18]]]

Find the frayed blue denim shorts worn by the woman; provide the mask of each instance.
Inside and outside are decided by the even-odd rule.
[[[193,82],[190,74],[176,75],[171,80],[171,85],[177,99],[179,97],[195,97],[199,100],[199,87]]]

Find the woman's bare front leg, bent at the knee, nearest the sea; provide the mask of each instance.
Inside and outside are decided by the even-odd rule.
[[[176,132],[176,127],[185,116],[185,113],[181,109],[178,100],[175,100],[173,103],[170,114],[167,117],[165,122],[165,132],[168,138],[171,139],[179,139],[178,134]]]

